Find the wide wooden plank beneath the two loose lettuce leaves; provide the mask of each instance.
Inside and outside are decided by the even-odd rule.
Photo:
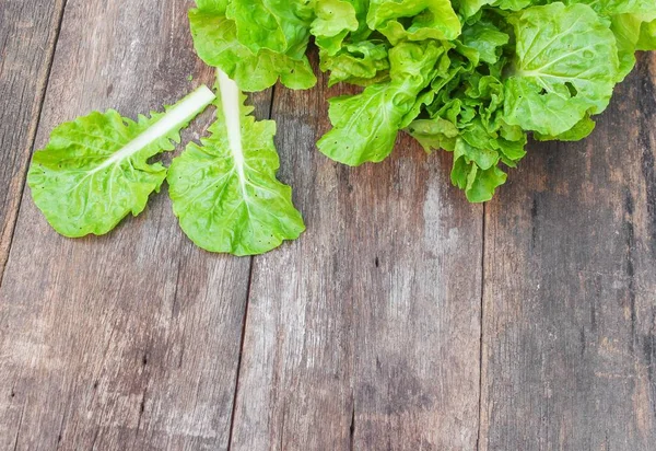
[[[211,83],[190,4],[69,0],[37,146],[75,115],[134,117],[191,91],[189,74]],[[270,96],[258,105],[268,114]],[[227,448],[249,269],[197,250],[166,195],[108,236],[71,241],[25,194],[0,290],[0,449]]]

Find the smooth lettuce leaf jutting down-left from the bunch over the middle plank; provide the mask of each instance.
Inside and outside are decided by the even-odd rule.
[[[330,159],[356,166],[385,160],[393,151],[403,118],[435,76],[445,48],[429,41],[403,43],[389,51],[390,81],[362,94],[330,100],[333,129],[317,143]]]

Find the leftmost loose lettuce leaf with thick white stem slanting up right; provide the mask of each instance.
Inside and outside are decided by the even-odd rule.
[[[214,99],[201,86],[166,113],[137,122],[109,109],[60,125],[27,175],[36,206],[65,236],[108,233],[160,190],[166,167],[149,160],[174,150],[179,131]]]

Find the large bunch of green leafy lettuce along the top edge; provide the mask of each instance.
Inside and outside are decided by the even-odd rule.
[[[330,100],[318,141],[349,165],[379,162],[405,130],[454,153],[452,182],[492,198],[538,140],[579,140],[636,50],[656,48],[654,0],[197,0],[198,55],[245,91],[363,86]]]

